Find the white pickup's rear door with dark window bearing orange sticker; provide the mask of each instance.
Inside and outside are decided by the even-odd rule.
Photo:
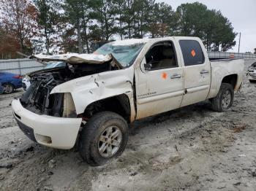
[[[177,38],[184,67],[185,95],[181,106],[205,101],[211,85],[211,64],[200,39]]]

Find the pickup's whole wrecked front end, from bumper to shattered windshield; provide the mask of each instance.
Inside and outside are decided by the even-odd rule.
[[[134,120],[134,68],[129,66],[143,44],[119,45],[102,46],[91,55],[34,55],[39,61],[61,61],[66,66],[27,74],[30,87],[22,98],[12,100],[13,115],[26,136],[48,147],[71,149],[81,125],[95,112],[113,107],[110,99],[124,103],[116,111]]]

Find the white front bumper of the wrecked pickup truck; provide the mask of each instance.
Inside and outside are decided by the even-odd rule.
[[[20,129],[32,141],[57,149],[71,149],[75,145],[81,118],[39,115],[23,108],[20,100],[12,101],[12,110]]]

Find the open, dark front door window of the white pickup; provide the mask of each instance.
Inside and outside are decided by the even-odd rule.
[[[146,65],[149,70],[178,67],[173,44],[171,42],[154,44],[146,53]]]

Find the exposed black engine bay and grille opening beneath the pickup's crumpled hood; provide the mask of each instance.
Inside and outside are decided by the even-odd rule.
[[[121,69],[115,58],[100,64],[72,63],[59,69],[45,69],[28,74],[31,86],[20,99],[24,108],[53,117],[77,117],[70,93],[50,94],[53,87],[72,79]]]

